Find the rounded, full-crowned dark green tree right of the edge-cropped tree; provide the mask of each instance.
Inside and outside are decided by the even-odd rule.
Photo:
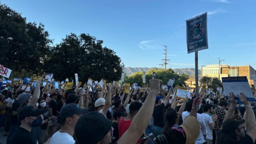
[[[88,78],[120,80],[124,64],[113,50],[102,47],[102,43],[89,34],[67,35],[50,52],[46,72],[53,72],[57,80],[74,78],[75,73],[83,82]]]

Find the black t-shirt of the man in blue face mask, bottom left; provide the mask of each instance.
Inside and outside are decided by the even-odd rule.
[[[18,128],[12,137],[11,144],[36,144],[36,136],[24,128]]]

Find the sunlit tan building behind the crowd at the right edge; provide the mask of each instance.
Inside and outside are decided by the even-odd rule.
[[[229,66],[229,65],[219,65],[218,64],[210,64],[206,66],[201,66],[201,76],[209,76],[209,77],[219,77],[220,72],[220,80],[222,81],[222,77],[230,77],[230,76],[246,76],[250,86],[253,86],[252,75],[256,74],[256,70],[252,68],[252,66]]]

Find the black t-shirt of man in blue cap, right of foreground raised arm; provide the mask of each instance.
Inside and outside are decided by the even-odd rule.
[[[164,128],[164,103],[155,106],[153,116],[154,116],[154,126]]]

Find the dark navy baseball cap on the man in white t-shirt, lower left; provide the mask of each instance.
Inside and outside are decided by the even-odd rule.
[[[77,104],[65,104],[65,106],[61,108],[58,118],[64,120],[73,114],[84,114],[86,112],[88,112],[88,108],[80,108]]]

